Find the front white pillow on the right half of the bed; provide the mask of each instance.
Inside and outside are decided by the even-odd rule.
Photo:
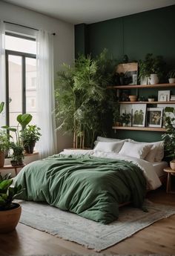
[[[137,143],[125,142],[122,146],[121,151],[119,151],[119,154],[125,154],[129,157],[145,159],[152,146],[152,144],[142,145]]]

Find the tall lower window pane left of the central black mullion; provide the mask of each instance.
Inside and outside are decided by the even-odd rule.
[[[9,117],[16,126],[16,116],[22,114],[22,57],[9,55]]]

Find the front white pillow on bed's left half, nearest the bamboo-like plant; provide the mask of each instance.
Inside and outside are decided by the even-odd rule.
[[[119,153],[120,149],[122,148],[122,142],[97,142],[94,151],[103,151],[103,152],[114,152]]]

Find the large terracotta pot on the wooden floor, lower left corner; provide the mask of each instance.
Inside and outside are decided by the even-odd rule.
[[[15,209],[0,211],[0,233],[12,232],[19,223],[22,206],[20,206],[19,203],[13,204],[16,205]]]

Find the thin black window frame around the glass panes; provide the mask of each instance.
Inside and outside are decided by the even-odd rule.
[[[16,33],[8,33],[7,36],[19,37],[22,39],[27,39],[31,41],[36,41],[36,39],[22,36]],[[36,59],[36,54],[24,53],[16,50],[5,50],[5,75],[6,75],[6,125],[10,124],[10,113],[9,113],[9,56],[20,56],[22,57],[22,114],[26,113],[26,58]]]

